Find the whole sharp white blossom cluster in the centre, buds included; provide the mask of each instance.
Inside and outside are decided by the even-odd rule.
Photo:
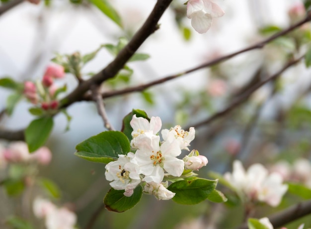
[[[111,187],[125,190],[125,196],[131,196],[137,185],[143,182],[144,192],[155,195],[159,200],[168,200],[174,193],[167,190],[167,182],[163,181],[167,175],[180,177],[184,170],[198,170],[208,163],[206,157],[193,150],[183,160],[177,156],[182,149],[188,149],[194,139],[195,130],[181,129],[179,125],[170,129],[163,129],[160,136],[161,119],[152,117],[150,121],[143,117],[133,116],[130,122],[133,131],[131,147],[133,152],[119,155],[118,160],[106,165],[106,179],[112,181]]]

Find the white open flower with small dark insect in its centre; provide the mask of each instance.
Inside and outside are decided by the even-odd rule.
[[[139,176],[139,166],[131,162],[134,153],[119,155],[117,161],[109,162],[105,168],[105,176],[110,182],[110,186],[115,190],[125,190],[125,196],[132,196],[134,189],[141,182]]]

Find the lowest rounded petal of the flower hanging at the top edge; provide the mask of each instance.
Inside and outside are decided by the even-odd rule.
[[[210,29],[213,18],[210,14],[198,11],[191,16],[191,25],[198,33],[205,33]]]

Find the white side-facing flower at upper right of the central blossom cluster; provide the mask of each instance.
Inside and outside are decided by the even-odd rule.
[[[176,140],[179,142],[180,149],[188,149],[190,142],[194,139],[195,130],[194,127],[189,128],[189,132],[181,129],[180,125],[168,129],[162,129],[161,131],[163,140],[168,138],[169,134],[173,134]]]

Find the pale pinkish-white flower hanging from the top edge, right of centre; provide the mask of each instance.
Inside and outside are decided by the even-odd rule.
[[[212,25],[214,17],[221,17],[225,12],[212,0],[189,0],[187,17],[198,33],[205,33]]]

